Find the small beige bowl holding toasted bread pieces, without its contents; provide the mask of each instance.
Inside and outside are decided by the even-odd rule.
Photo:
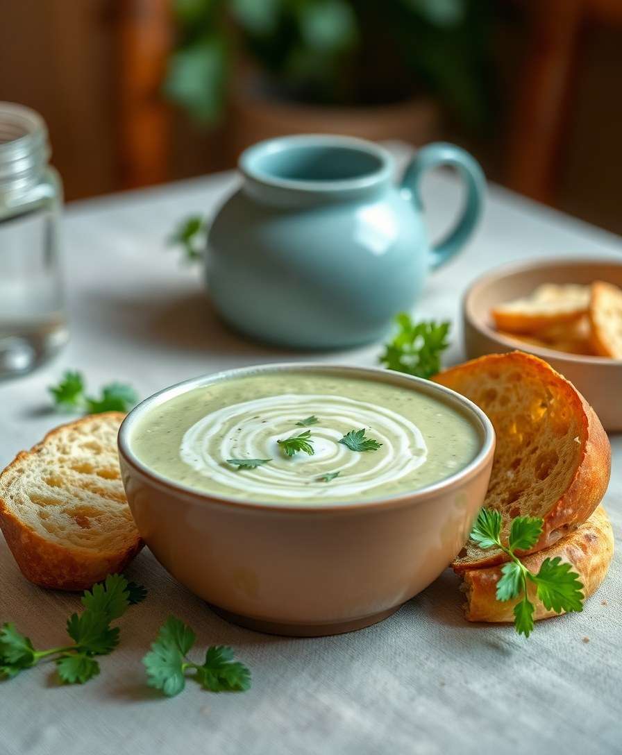
[[[622,263],[616,260],[543,260],[493,270],[466,291],[463,333],[470,359],[520,349],[545,359],[568,378],[593,406],[605,430],[622,430],[622,361],[579,356],[526,344],[494,328],[491,309],[497,304],[531,294],[542,283],[590,284],[602,280],[622,286]]]

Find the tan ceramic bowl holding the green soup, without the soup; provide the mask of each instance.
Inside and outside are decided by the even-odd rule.
[[[173,396],[258,371],[300,370],[363,377],[434,396],[473,422],[480,450],[463,470],[434,485],[346,504],[228,500],[171,482],[132,452],[137,421]],[[396,372],[331,365],[265,365],[198,377],[143,401],[119,431],[125,492],[159,562],[225,618],[290,636],[374,624],[436,579],[468,537],[493,453],[490,421],[454,391]]]

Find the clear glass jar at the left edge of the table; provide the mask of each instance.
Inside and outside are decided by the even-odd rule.
[[[49,156],[41,116],[0,102],[0,378],[29,372],[67,340],[63,186]]]

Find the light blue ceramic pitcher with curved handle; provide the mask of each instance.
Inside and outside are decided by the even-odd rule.
[[[454,230],[430,247],[419,188],[436,165],[457,168],[466,202]],[[382,337],[414,307],[428,270],[469,238],[485,190],[478,163],[447,143],[420,149],[399,185],[386,149],[331,135],[257,143],[239,169],[242,186],[208,235],[214,307],[251,337],[303,349]]]

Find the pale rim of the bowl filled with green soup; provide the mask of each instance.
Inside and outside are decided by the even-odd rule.
[[[283,371],[318,371],[318,372],[345,372],[351,377],[368,377],[370,379],[380,378],[383,382],[399,384],[405,387],[412,387],[413,390],[423,390],[424,393],[436,395],[442,401],[449,405],[460,407],[458,411],[470,415],[470,421],[479,430],[481,445],[475,457],[466,464],[465,467],[456,473],[445,477],[439,482],[426,485],[417,490],[393,495],[385,498],[371,498],[365,501],[314,501],[309,504],[300,504],[295,501],[250,501],[245,498],[227,497],[215,493],[203,492],[192,488],[189,485],[183,485],[180,482],[168,479],[164,475],[155,472],[146,464],[143,464],[134,451],[131,450],[131,432],[137,422],[151,408],[160,405],[169,399],[187,393],[194,388],[202,387],[221,381],[227,381],[235,377],[247,377],[251,374],[262,374],[265,372],[283,372]],[[486,414],[474,404],[470,399],[461,396],[460,393],[451,390],[445,386],[425,380],[422,377],[403,374],[385,368],[378,367],[359,367],[356,365],[342,365],[334,362],[271,362],[263,365],[250,365],[248,367],[232,368],[217,371],[211,374],[202,374],[198,377],[191,377],[189,380],[181,381],[167,388],[159,390],[148,398],[137,404],[125,417],[118,435],[119,456],[130,467],[134,467],[138,473],[146,476],[151,485],[172,493],[179,497],[190,498],[193,501],[210,504],[222,504],[228,507],[251,510],[269,510],[269,511],[287,511],[300,514],[314,513],[317,511],[324,512],[353,512],[361,509],[374,510],[378,508],[400,507],[403,505],[414,504],[429,500],[439,493],[445,493],[463,485],[464,482],[480,473],[482,468],[491,462],[494,455],[495,434],[494,427]],[[125,475],[124,475],[125,481]]]

